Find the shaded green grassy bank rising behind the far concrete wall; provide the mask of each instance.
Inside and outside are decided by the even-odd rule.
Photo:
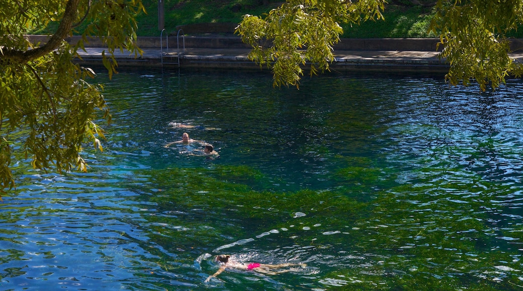
[[[176,26],[195,23],[238,23],[243,15],[261,16],[282,4],[281,0],[163,0],[165,29],[175,32]],[[158,29],[158,1],[143,0],[147,14],[137,16],[138,35],[154,37]],[[361,26],[344,26],[344,38],[425,38],[432,9],[414,6],[407,0],[392,0],[385,6],[385,21],[367,21]],[[52,34],[57,24],[33,31]],[[81,34],[83,27],[77,28]]]

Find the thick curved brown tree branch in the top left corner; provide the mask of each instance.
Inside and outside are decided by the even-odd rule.
[[[76,20],[78,15],[78,5],[80,0],[69,0],[65,6],[64,15],[62,21],[56,32],[52,35],[49,41],[38,48],[27,51],[20,50],[9,50],[3,49],[3,56],[0,59],[9,59],[11,62],[15,63],[27,63],[32,59],[46,55],[58,48],[61,42],[69,36],[71,29],[73,27],[73,21]]]

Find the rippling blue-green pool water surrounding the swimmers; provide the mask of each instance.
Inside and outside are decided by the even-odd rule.
[[[523,288],[523,84],[441,79],[101,74],[89,172],[15,167],[0,289]],[[221,157],[164,148],[184,131]],[[308,266],[204,283],[220,253]]]

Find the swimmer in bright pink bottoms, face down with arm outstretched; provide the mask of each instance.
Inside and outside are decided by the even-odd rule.
[[[219,256],[215,257],[215,260],[220,263],[220,269],[216,271],[216,273],[212,274],[211,276],[207,277],[205,282],[209,282],[212,277],[216,277],[219,274],[221,274],[223,271],[225,271],[226,268],[231,269],[237,269],[237,270],[253,270],[255,272],[269,274],[269,275],[276,275],[280,273],[289,272],[289,270],[280,270],[280,271],[272,271],[276,269],[285,268],[288,266],[302,266],[306,267],[307,265],[304,263],[299,264],[292,264],[292,263],[283,263],[283,264],[261,264],[261,263],[240,263],[233,260],[230,260],[231,256],[229,254],[220,254]]]

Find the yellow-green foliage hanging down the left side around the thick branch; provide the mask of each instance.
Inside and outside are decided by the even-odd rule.
[[[89,68],[73,63],[88,37],[98,36],[109,58],[104,64],[115,71],[115,49],[141,53],[136,45],[134,16],[143,10],[140,1],[47,0],[2,1],[0,11],[0,189],[14,186],[10,171],[13,150],[30,157],[33,167],[86,171],[79,155],[89,139],[102,150],[103,130],[94,122],[96,110],[110,116],[100,86],[84,79]],[[25,34],[36,27],[59,21],[46,44],[33,44]],[[64,38],[82,22],[89,23],[83,39],[70,45]],[[22,130],[23,138],[14,133]],[[21,142],[22,146],[15,146]]]

